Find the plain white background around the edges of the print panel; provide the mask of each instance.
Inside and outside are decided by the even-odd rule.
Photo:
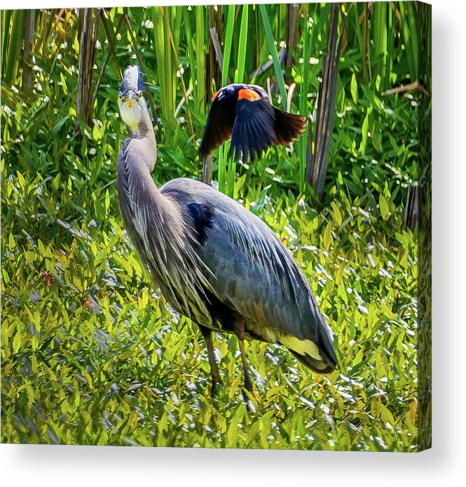
[[[269,0],[270,1],[270,0]],[[17,0],[1,8],[141,5]],[[147,4],[162,1],[146,0]],[[170,1],[167,4],[214,4]],[[240,3],[222,2],[222,3]],[[271,3],[271,2],[270,2]],[[465,2],[432,0],[433,448],[418,454],[0,445],[3,486],[458,486],[466,479]],[[463,479],[461,481],[460,479]],[[443,486],[442,486],[443,484]]]

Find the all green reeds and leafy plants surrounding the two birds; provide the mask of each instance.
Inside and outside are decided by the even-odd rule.
[[[404,225],[408,188],[420,178],[418,93],[383,95],[416,81],[418,4],[346,4],[323,201],[304,183],[306,136],[250,166],[231,164],[228,149],[214,154],[219,188],[259,215],[303,268],[336,337],[337,371],[315,375],[281,347],[247,342],[257,392],[247,411],[237,340],[216,335],[224,385],[212,399],[197,327],[151,288],[123,231],[121,70],[140,56],[160,117],[156,183],[198,178],[212,93],[227,78],[249,80],[274,39],[280,51],[287,8],[130,8],[131,32],[123,9],[102,11],[91,126],[76,118],[74,11],[36,11],[31,86],[18,48],[23,14],[1,12],[2,442],[420,447],[418,230]],[[303,5],[297,20],[291,67],[280,80],[275,52],[275,68],[270,62],[254,83],[276,84],[277,106],[278,85],[296,84],[292,112],[313,114],[329,5]],[[223,72],[210,27],[224,42]]]

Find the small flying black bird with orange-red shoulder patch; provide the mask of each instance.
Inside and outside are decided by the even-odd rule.
[[[267,92],[252,84],[230,84],[215,93],[200,155],[231,138],[228,156],[254,161],[271,145],[289,144],[306,128],[306,117],[270,105]]]

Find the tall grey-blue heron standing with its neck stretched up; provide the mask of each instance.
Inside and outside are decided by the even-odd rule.
[[[313,371],[334,370],[329,328],[301,269],[270,228],[203,182],[177,178],[156,187],[156,139],[136,66],[125,70],[118,105],[129,132],[118,156],[125,227],[167,302],[198,324],[212,394],[221,382],[212,330],[238,337],[249,392],[245,338],[285,345]]]

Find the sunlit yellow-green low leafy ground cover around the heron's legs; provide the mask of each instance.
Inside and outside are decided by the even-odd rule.
[[[2,241],[2,441],[416,448],[416,244],[390,201],[372,215],[343,193],[322,214],[285,196],[263,206],[320,297],[341,367],[316,376],[248,342],[259,398],[247,412],[236,339],[216,337],[224,385],[212,399],[204,342],[146,283],[114,187],[95,198],[97,222],[67,223],[43,201],[73,183],[25,176],[2,187],[18,215]],[[49,232],[27,225],[34,215]]]

